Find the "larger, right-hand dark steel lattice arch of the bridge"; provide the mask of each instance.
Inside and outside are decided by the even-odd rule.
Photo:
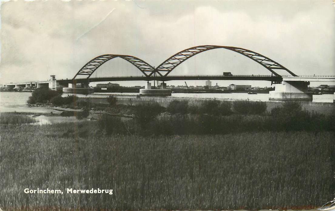
[[[293,72],[289,71],[287,68],[282,66],[281,64],[273,61],[272,59],[263,56],[259,53],[256,53],[254,51],[250,51],[243,48],[237,48],[237,47],[229,47],[229,46],[212,46],[212,45],[205,45],[205,46],[196,46],[192,48],[185,49],[181,52],[178,52],[177,54],[171,56],[169,59],[165,60],[163,63],[161,63],[157,68],[155,68],[154,72],[157,72],[160,76],[167,76],[173,69],[175,69],[178,65],[180,65],[182,62],[187,60],[188,58],[199,54],[204,51],[212,50],[212,49],[218,49],[218,48],[224,48],[231,51],[235,51],[239,54],[242,54],[243,56],[246,56],[255,62],[261,64],[263,67],[268,69],[271,73],[273,73],[276,76],[280,76],[278,73],[275,72],[277,69],[285,70],[292,76],[297,76]],[[152,75],[152,73],[149,74]]]

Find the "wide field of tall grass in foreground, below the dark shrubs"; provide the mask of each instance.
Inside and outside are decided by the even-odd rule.
[[[334,135],[108,137],[90,122],[6,127],[0,204],[6,211],[315,208],[334,198]],[[24,194],[24,188],[114,194]]]

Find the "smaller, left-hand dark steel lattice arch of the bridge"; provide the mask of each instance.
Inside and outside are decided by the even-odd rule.
[[[131,64],[133,64],[135,67],[137,67],[145,76],[149,76],[153,73],[154,68],[146,63],[145,61],[129,56],[129,55],[116,55],[116,54],[105,54],[98,57],[95,57],[91,61],[87,62],[73,77],[72,80],[74,80],[77,75],[88,75],[87,78],[89,78],[96,69],[98,69],[101,65],[103,65],[105,62],[114,59],[114,58],[122,58]],[[149,74],[148,74],[149,73]]]

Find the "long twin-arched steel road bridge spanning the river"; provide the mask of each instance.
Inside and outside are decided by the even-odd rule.
[[[172,71],[178,71],[178,66],[182,64],[187,59],[213,49],[226,49],[236,53],[239,53],[249,59],[257,62],[266,68],[271,75],[231,75],[231,74],[222,74],[222,75],[172,75],[169,74]],[[102,78],[93,78],[92,74],[104,63],[109,60],[121,58],[132,65],[134,65],[141,73],[142,76],[125,76],[125,77],[102,77]],[[176,69],[177,68],[177,69]],[[176,70],[175,70],[176,69]],[[287,72],[288,76],[283,76],[278,73],[278,70],[281,72]],[[78,76],[87,76],[80,78]],[[43,85],[48,85],[52,89],[61,89],[68,87],[69,84],[72,84],[72,87],[76,87],[76,83],[81,83],[83,88],[88,88],[89,82],[94,81],[138,81],[143,80],[149,81],[158,80],[162,81],[162,89],[164,89],[165,81],[169,80],[264,80],[271,81],[275,83],[275,90],[270,91],[270,99],[274,100],[311,100],[312,94],[308,93],[308,84],[310,81],[325,81],[325,82],[335,82],[334,76],[297,76],[292,71],[288,70],[283,65],[278,62],[262,55],[257,52],[231,46],[216,46],[216,45],[202,45],[195,46],[182,50],[171,57],[167,58],[164,62],[158,65],[156,68],[134,56],[130,55],[117,55],[117,54],[105,54],[93,58],[87,62],[80,70],[75,74],[72,79],[66,80],[57,80],[55,75],[52,75],[50,80],[45,82],[25,82],[25,83],[10,83],[6,84],[8,87],[19,88],[22,86],[25,87],[39,87]],[[35,86],[32,86],[35,84]],[[150,85],[151,86],[151,85]],[[165,84],[166,87],[166,84]],[[76,89],[76,88],[74,88]],[[335,96],[335,95],[334,95]]]

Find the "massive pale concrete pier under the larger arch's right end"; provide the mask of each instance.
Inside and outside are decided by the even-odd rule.
[[[275,90],[269,92],[269,100],[313,100],[312,93],[308,93],[309,82],[283,81],[275,84]]]

